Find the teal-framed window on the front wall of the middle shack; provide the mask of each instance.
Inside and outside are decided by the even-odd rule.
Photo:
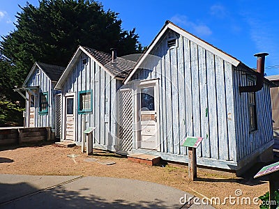
[[[85,114],[92,111],[92,90],[80,91],[78,93],[78,113]]]

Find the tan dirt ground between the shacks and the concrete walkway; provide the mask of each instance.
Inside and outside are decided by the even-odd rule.
[[[78,156],[67,156],[71,154]],[[100,162],[113,161],[116,164],[105,165],[84,161],[88,158],[95,158]],[[222,202],[225,197],[235,198],[235,204],[230,204],[227,199],[225,205],[213,204],[216,208],[259,208],[252,203],[252,199],[269,190],[267,181],[237,178],[232,173],[210,172],[204,169],[198,169],[197,180],[191,182],[188,180],[187,171],[186,165],[166,164],[151,167],[146,164],[129,162],[126,156],[102,150],[94,150],[93,155],[88,156],[86,153],[81,153],[79,146],[62,148],[48,144],[1,148],[0,151],[0,173],[132,178],[175,187],[199,198],[219,197]],[[249,197],[251,205],[243,206],[242,197]],[[239,203],[237,203],[238,199]],[[260,204],[260,202],[258,203]],[[234,203],[234,199],[232,199],[232,203]]]

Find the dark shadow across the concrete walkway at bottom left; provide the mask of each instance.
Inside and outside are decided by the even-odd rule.
[[[167,203],[159,199],[132,203],[124,199],[108,200],[93,194],[82,194],[86,190],[90,189],[85,187],[75,192],[66,190],[62,185],[38,190],[27,183],[1,183],[0,208],[169,208]],[[15,193],[11,195],[12,192]]]

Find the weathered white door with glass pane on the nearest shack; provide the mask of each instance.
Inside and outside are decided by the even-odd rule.
[[[158,149],[158,95],[156,84],[140,86],[140,148]]]

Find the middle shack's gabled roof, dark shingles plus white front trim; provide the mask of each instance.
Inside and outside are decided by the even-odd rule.
[[[117,57],[116,59],[114,59],[114,62],[112,62],[111,54],[100,52],[96,49],[91,49],[89,47],[80,46],[77,48],[77,51],[70,60],[70,63],[68,63],[66,70],[64,70],[59,81],[57,82],[55,86],[56,89],[60,89],[62,87],[63,83],[66,81],[73,66],[75,65],[75,62],[79,58],[80,54],[82,54],[82,52],[84,52],[84,54],[93,59],[93,61],[98,63],[98,65],[100,65],[101,68],[103,68],[110,76],[112,76],[115,79],[123,80],[128,75],[128,72],[130,72],[135,66],[134,61],[129,61],[127,59]]]

